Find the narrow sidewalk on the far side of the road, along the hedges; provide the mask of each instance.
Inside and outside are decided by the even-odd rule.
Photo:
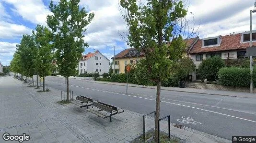
[[[126,86],[126,83],[119,82],[102,82],[102,81],[88,81],[82,80],[84,82],[94,82],[94,83],[103,83],[103,84],[112,84],[112,85],[121,85]],[[130,84],[130,87],[142,87],[142,88],[151,88],[156,89],[156,86],[143,86],[138,84]],[[209,89],[196,89],[196,88],[178,88],[178,87],[161,87],[162,90],[175,91],[175,92],[189,92],[189,93],[200,93],[200,94],[209,94],[209,95],[221,95],[221,96],[233,96],[233,97],[244,97],[244,98],[256,98],[256,93],[248,92],[232,92],[232,91],[223,91],[223,90],[209,90]]]

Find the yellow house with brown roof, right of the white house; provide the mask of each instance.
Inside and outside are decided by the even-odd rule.
[[[144,56],[137,51],[135,48],[125,49],[118,54],[116,54],[113,58],[113,64],[111,68],[115,69],[115,73],[125,73],[125,66],[127,64],[136,64],[138,61]]]

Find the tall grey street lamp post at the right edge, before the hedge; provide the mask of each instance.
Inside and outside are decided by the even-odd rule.
[[[253,46],[252,13],[254,12],[256,12],[256,1],[254,3],[254,9],[250,10],[250,47]],[[250,92],[253,93],[253,56],[250,56],[250,72],[251,72]]]

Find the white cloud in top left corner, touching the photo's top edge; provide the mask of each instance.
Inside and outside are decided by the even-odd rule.
[[[44,5],[42,0],[4,0],[5,2],[12,4],[12,9],[17,14],[21,15],[24,20],[28,20],[32,23],[46,24],[47,14],[51,12],[47,6]]]

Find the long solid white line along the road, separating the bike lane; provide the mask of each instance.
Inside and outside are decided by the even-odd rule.
[[[49,81],[49,82],[52,82],[52,81]],[[59,83],[59,82],[55,82],[55,83]],[[59,84],[65,84],[65,83],[59,83]],[[94,91],[99,91],[99,92],[106,92],[106,91],[102,91],[102,90],[96,90],[96,89],[91,89],[91,88],[86,88],[86,87],[81,87],[81,86],[76,86],[76,85],[71,85],[71,84],[70,84],[70,86],[84,88],[84,89],[89,89],[89,90],[94,90]],[[133,96],[133,95],[120,94],[120,93],[115,93],[115,92],[107,92],[107,93],[114,93],[114,94],[119,94],[119,95],[125,95],[125,96],[130,96],[130,97],[136,97],[136,98],[141,98],[141,99],[147,99],[147,100],[155,101],[154,99],[138,97],[138,96]],[[161,101],[161,102],[165,102],[165,101]],[[240,118],[240,117],[236,117],[236,116],[232,116],[232,115],[228,115],[228,114],[224,114],[224,113],[220,113],[220,112],[209,111],[209,110],[205,110],[205,109],[201,109],[201,108],[197,108],[197,107],[192,107],[192,106],[187,106],[187,105],[182,105],[182,104],[177,104],[177,103],[172,103],[172,102],[165,102],[165,103],[174,104],[174,105],[178,105],[178,106],[184,106],[184,107],[198,109],[198,110],[203,110],[203,111],[207,111],[207,112],[221,114],[221,115],[224,115],[224,116],[229,116],[229,117],[233,117],[233,118],[237,118],[237,119],[241,119],[241,120],[245,120],[245,121],[256,123],[256,121],[253,121],[253,120],[248,120],[248,119],[244,119],[244,118]]]

